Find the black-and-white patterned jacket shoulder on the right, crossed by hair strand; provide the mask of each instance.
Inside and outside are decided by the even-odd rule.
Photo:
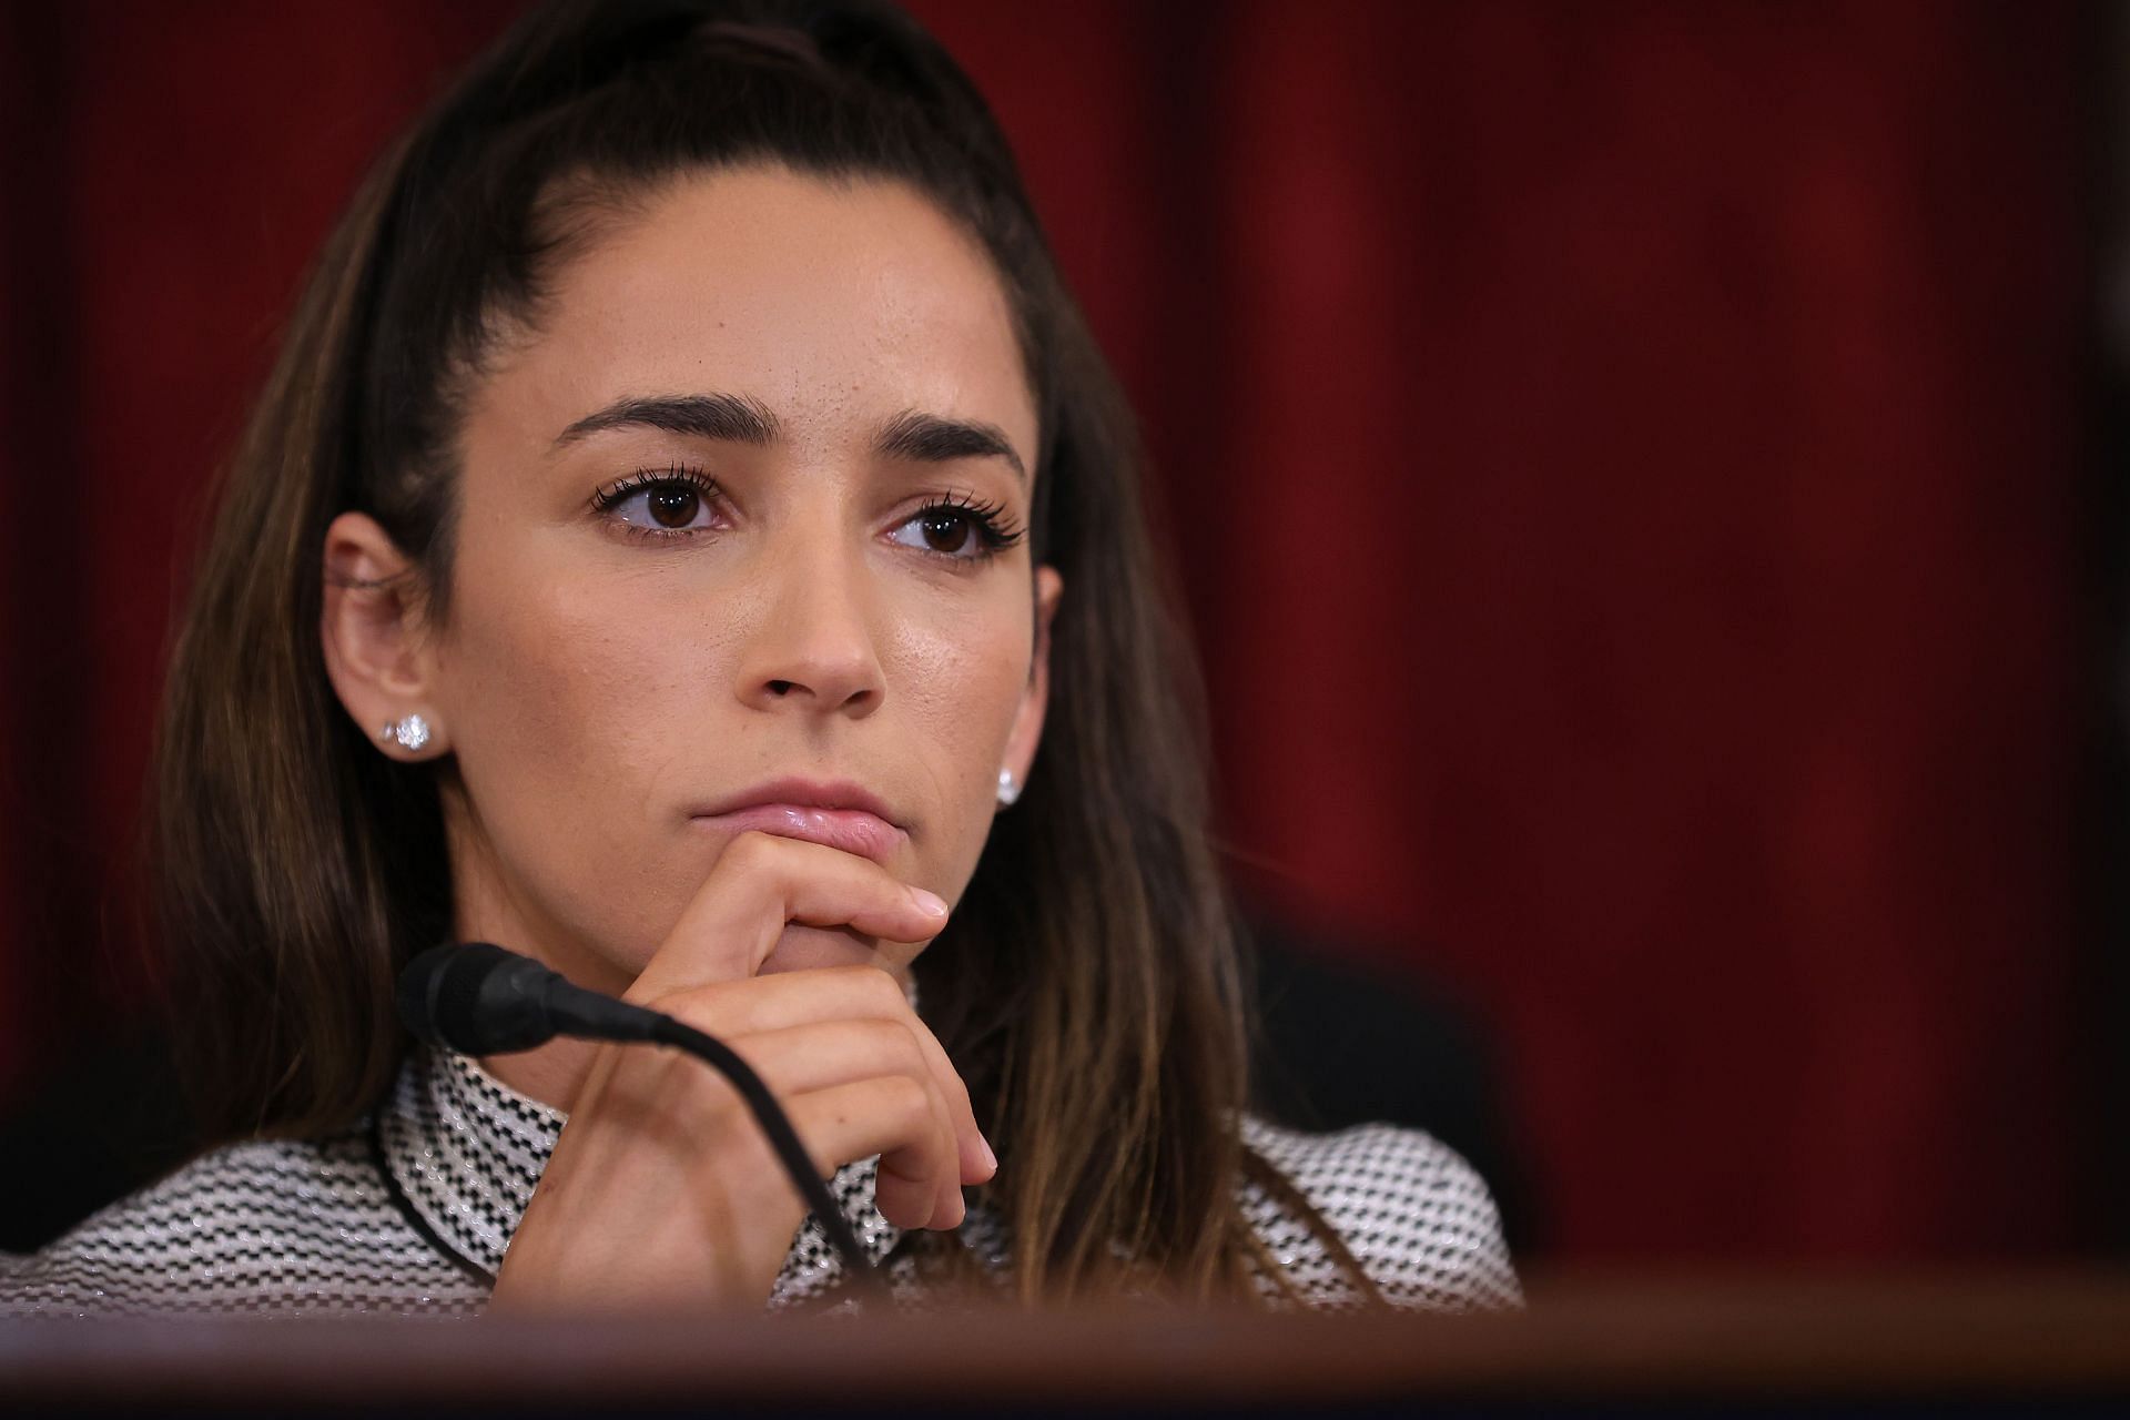
[[[1517,1307],[1502,1218],[1485,1179],[1433,1135],[1357,1124],[1308,1135],[1246,1120],[1244,1143],[1293,1184],[1395,1307]],[[1244,1209],[1259,1239],[1312,1305],[1357,1305],[1353,1286],[1308,1222],[1257,1182]]]

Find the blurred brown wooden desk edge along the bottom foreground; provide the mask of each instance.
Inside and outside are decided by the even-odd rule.
[[[0,1407],[2130,1397],[2130,1273],[1559,1282],[1508,1316],[187,1320],[0,1326]],[[961,1397],[961,1399],[956,1399]]]

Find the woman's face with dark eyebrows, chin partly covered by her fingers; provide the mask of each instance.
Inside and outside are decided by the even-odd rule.
[[[618,988],[748,828],[952,903],[1033,758],[1059,594],[984,251],[903,185],[711,172],[537,326],[466,407],[411,707],[456,756],[460,935]],[[792,926],[765,969],[912,952]]]

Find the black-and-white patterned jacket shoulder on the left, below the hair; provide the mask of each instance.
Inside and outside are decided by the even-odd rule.
[[[236,1143],[0,1258],[0,1316],[458,1314],[479,1288],[398,1213],[351,1133]]]

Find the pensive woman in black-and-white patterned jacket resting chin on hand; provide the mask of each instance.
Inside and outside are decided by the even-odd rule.
[[[409,1047],[445,939],[728,1041],[903,1297],[1514,1301],[1438,1143],[1242,1113],[1133,468],[905,17],[535,13],[332,236],[173,660],[164,932],[232,1143],[9,1307],[837,1294],[697,1062]]]

